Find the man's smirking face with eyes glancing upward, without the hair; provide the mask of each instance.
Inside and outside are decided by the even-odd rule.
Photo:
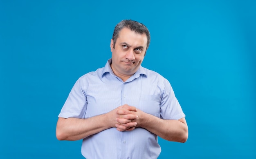
[[[141,65],[147,47],[146,34],[139,34],[124,28],[119,32],[115,43],[111,39],[110,48],[112,52],[111,68],[115,75],[122,77],[132,76]]]

